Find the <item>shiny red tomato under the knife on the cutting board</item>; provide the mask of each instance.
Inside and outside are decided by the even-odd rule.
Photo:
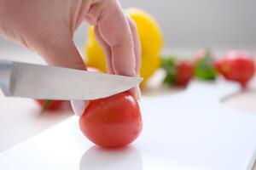
[[[137,100],[124,92],[90,101],[79,125],[93,143],[102,147],[121,147],[137,139],[143,122]]]

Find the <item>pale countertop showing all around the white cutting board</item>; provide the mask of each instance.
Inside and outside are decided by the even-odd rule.
[[[44,64],[44,61],[27,50],[1,50],[0,59],[20,60],[25,62]],[[159,79],[156,75],[155,79]],[[156,88],[155,85],[146,88],[143,95],[160,95],[166,93],[166,88]],[[168,90],[176,93],[178,90]],[[256,81],[250,83],[249,90],[238,94],[232,94],[223,99],[225,105],[236,110],[249,111],[256,114]],[[29,111],[28,111],[29,110]],[[73,115],[69,106],[62,108],[61,111],[51,113],[40,112],[40,107],[32,99],[11,99],[6,98],[0,93],[0,152],[33,135],[52,127],[57,122],[61,122],[68,116]],[[256,167],[254,168],[256,170]]]

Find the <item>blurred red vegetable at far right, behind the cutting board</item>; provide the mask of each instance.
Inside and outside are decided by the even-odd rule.
[[[216,68],[227,80],[240,82],[242,87],[246,87],[255,72],[252,55],[243,51],[225,54],[224,59],[217,61]]]

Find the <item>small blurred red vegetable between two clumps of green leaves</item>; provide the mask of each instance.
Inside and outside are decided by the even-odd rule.
[[[193,65],[181,61],[177,63],[176,81],[179,86],[187,86],[193,77]]]

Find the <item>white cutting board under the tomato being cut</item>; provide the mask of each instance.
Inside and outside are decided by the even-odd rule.
[[[0,169],[252,169],[256,116],[220,102],[238,90],[228,82],[192,82],[181,93],[143,97],[143,133],[119,150],[94,146],[73,116],[0,153]]]

